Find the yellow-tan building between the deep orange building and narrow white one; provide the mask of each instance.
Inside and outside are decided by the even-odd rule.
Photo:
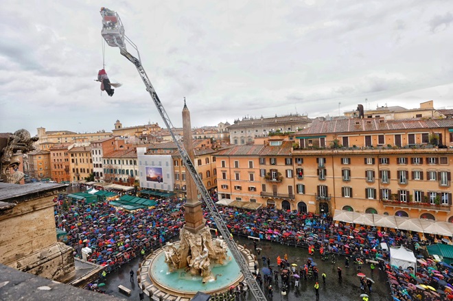
[[[93,158],[90,146],[75,146],[68,150],[71,182],[83,181],[93,173]]]

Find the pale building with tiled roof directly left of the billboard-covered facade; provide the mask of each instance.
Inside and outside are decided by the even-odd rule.
[[[139,176],[137,148],[115,149],[102,157],[105,182],[132,186]]]

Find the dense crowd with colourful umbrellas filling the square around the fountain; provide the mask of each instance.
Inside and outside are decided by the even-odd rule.
[[[91,253],[87,260],[106,266],[107,272],[135,256],[159,248],[178,235],[184,224],[184,200],[177,198],[158,200],[155,207],[133,213],[109,206],[108,202],[85,204],[68,200],[65,195],[56,197],[54,202],[56,225],[67,232],[67,243],[76,250],[75,256],[82,256],[82,248],[88,247]],[[379,267],[388,276],[395,300],[453,299],[453,267],[436,263],[432,258],[423,261],[420,255],[423,245],[440,241],[441,237],[432,234],[421,237],[417,232],[343,224],[325,214],[275,208],[246,210],[228,206],[218,207],[218,210],[232,234],[305,247],[310,255],[319,254],[321,260],[332,261],[332,264],[340,260],[339,256],[344,256],[345,267],[349,267],[351,261],[357,264],[358,272],[364,263],[371,263],[372,270],[375,266]],[[216,228],[209,213],[205,213],[205,218],[209,227]],[[417,273],[391,266],[388,251],[381,248],[381,243],[389,247],[404,245],[414,250],[419,255]],[[259,259],[256,245],[255,254]],[[299,278],[312,278],[318,284],[319,271],[312,258],[307,258],[307,263],[300,267],[290,264],[287,258],[275,258],[279,269],[274,271],[270,258],[263,257],[262,260],[267,270],[256,273],[257,281],[270,295],[273,291],[272,278],[274,281],[280,278],[282,293],[288,287],[297,286]],[[341,278],[339,266],[338,278]],[[322,279],[325,281],[325,276]],[[372,283],[366,279],[362,281],[362,290],[371,292]],[[231,296],[241,296],[242,293],[244,287],[237,287],[228,293],[228,298],[222,295],[216,296],[216,300],[229,300]]]

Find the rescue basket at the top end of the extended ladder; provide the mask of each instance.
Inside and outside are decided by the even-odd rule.
[[[124,27],[119,19],[118,13],[108,8],[101,8],[102,31],[101,35],[108,46],[125,47]]]

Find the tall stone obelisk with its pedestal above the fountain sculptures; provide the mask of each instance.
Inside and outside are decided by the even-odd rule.
[[[194,143],[192,143],[192,130],[190,125],[190,112],[185,104],[184,97],[184,108],[183,108],[183,139],[184,148],[189,154],[190,160],[194,162]],[[201,208],[201,202],[198,200],[198,193],[194,179],[192,179],[189,170],[185,168],[185,183],[187,200],[185,202],[185,229],[196,233],[198,230],[205,226],[203,220],[203,212]]]

